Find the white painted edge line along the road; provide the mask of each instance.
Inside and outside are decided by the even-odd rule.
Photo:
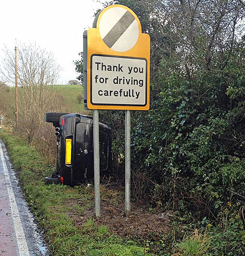
[[[22,227],[21,220],[19,217],[17,203],[16,203],[16,200],[14,197],[14,192],[13,192],[13,188],[12,188],[11,181],[10,181],[10,174],[7,169],[7,165],[5,162],[1,144],[0,144],[0,155],[1,155],[1,159],[2,159],[5,180],[6,180],[6,184],[7,184],[6,186],[7,186],[8,194],[9,194],[9,198],[10,198],[10,208],[11,208],[12,218],[13,218],[13,222],[14,222],[14,230],[15,230],[15,235],[16,235],[16,239],[17,239],[17,246],[19,249],[19,256],[29,256],[27,242],[25,239],[23,227]]]

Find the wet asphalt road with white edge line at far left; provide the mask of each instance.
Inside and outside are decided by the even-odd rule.
[[[0,256],[44,255],[47,246],[0,140]]]

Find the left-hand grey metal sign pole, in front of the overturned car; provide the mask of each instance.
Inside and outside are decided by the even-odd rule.
[[[95,217],[101,217],[99,111],[93,110]]]

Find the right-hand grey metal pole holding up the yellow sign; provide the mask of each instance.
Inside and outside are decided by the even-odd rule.
[[[125,111],[125,215],[130,216],[130,110]]]

